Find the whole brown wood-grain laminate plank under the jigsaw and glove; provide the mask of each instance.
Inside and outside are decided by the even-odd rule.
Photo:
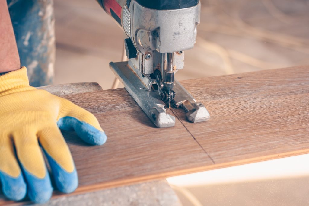
[[[208,122],[167,109],[176,126],[156,128],[124,88],[66,97],[92,112],[108,136],[93,147],[64,133],[79,175],[75,194],[309,153],[309,67],[181,83],[206,105]],[[0,200],[8,203],[16,204]]]

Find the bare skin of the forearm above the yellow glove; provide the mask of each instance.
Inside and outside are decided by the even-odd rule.
[[[17,44],[6,0],[0,0],[0,73],[20,69]]]

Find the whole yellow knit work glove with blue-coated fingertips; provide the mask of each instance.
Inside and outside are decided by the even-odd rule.
[[[61,131],[74,130],[85,142],[102,145],[106,135],[87,110],[29,86],[26,67],[0,76],[0,179],[4,195],[44,203],[53,187],[40,146],[58,190],[78,186],[76,168]]]

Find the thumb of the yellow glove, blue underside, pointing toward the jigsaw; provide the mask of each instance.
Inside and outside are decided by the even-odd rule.
[[[74,130],[85,142],[102,145],[106,142],[106,135],[93,114],[72,102],[63,99],[62,112],[57,125],[60,129]]]

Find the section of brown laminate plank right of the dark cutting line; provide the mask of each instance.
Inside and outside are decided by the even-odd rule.
[[[210,120],[178,116],[216,163],[213,168],[309,152],[309,67],[182,81]]]

